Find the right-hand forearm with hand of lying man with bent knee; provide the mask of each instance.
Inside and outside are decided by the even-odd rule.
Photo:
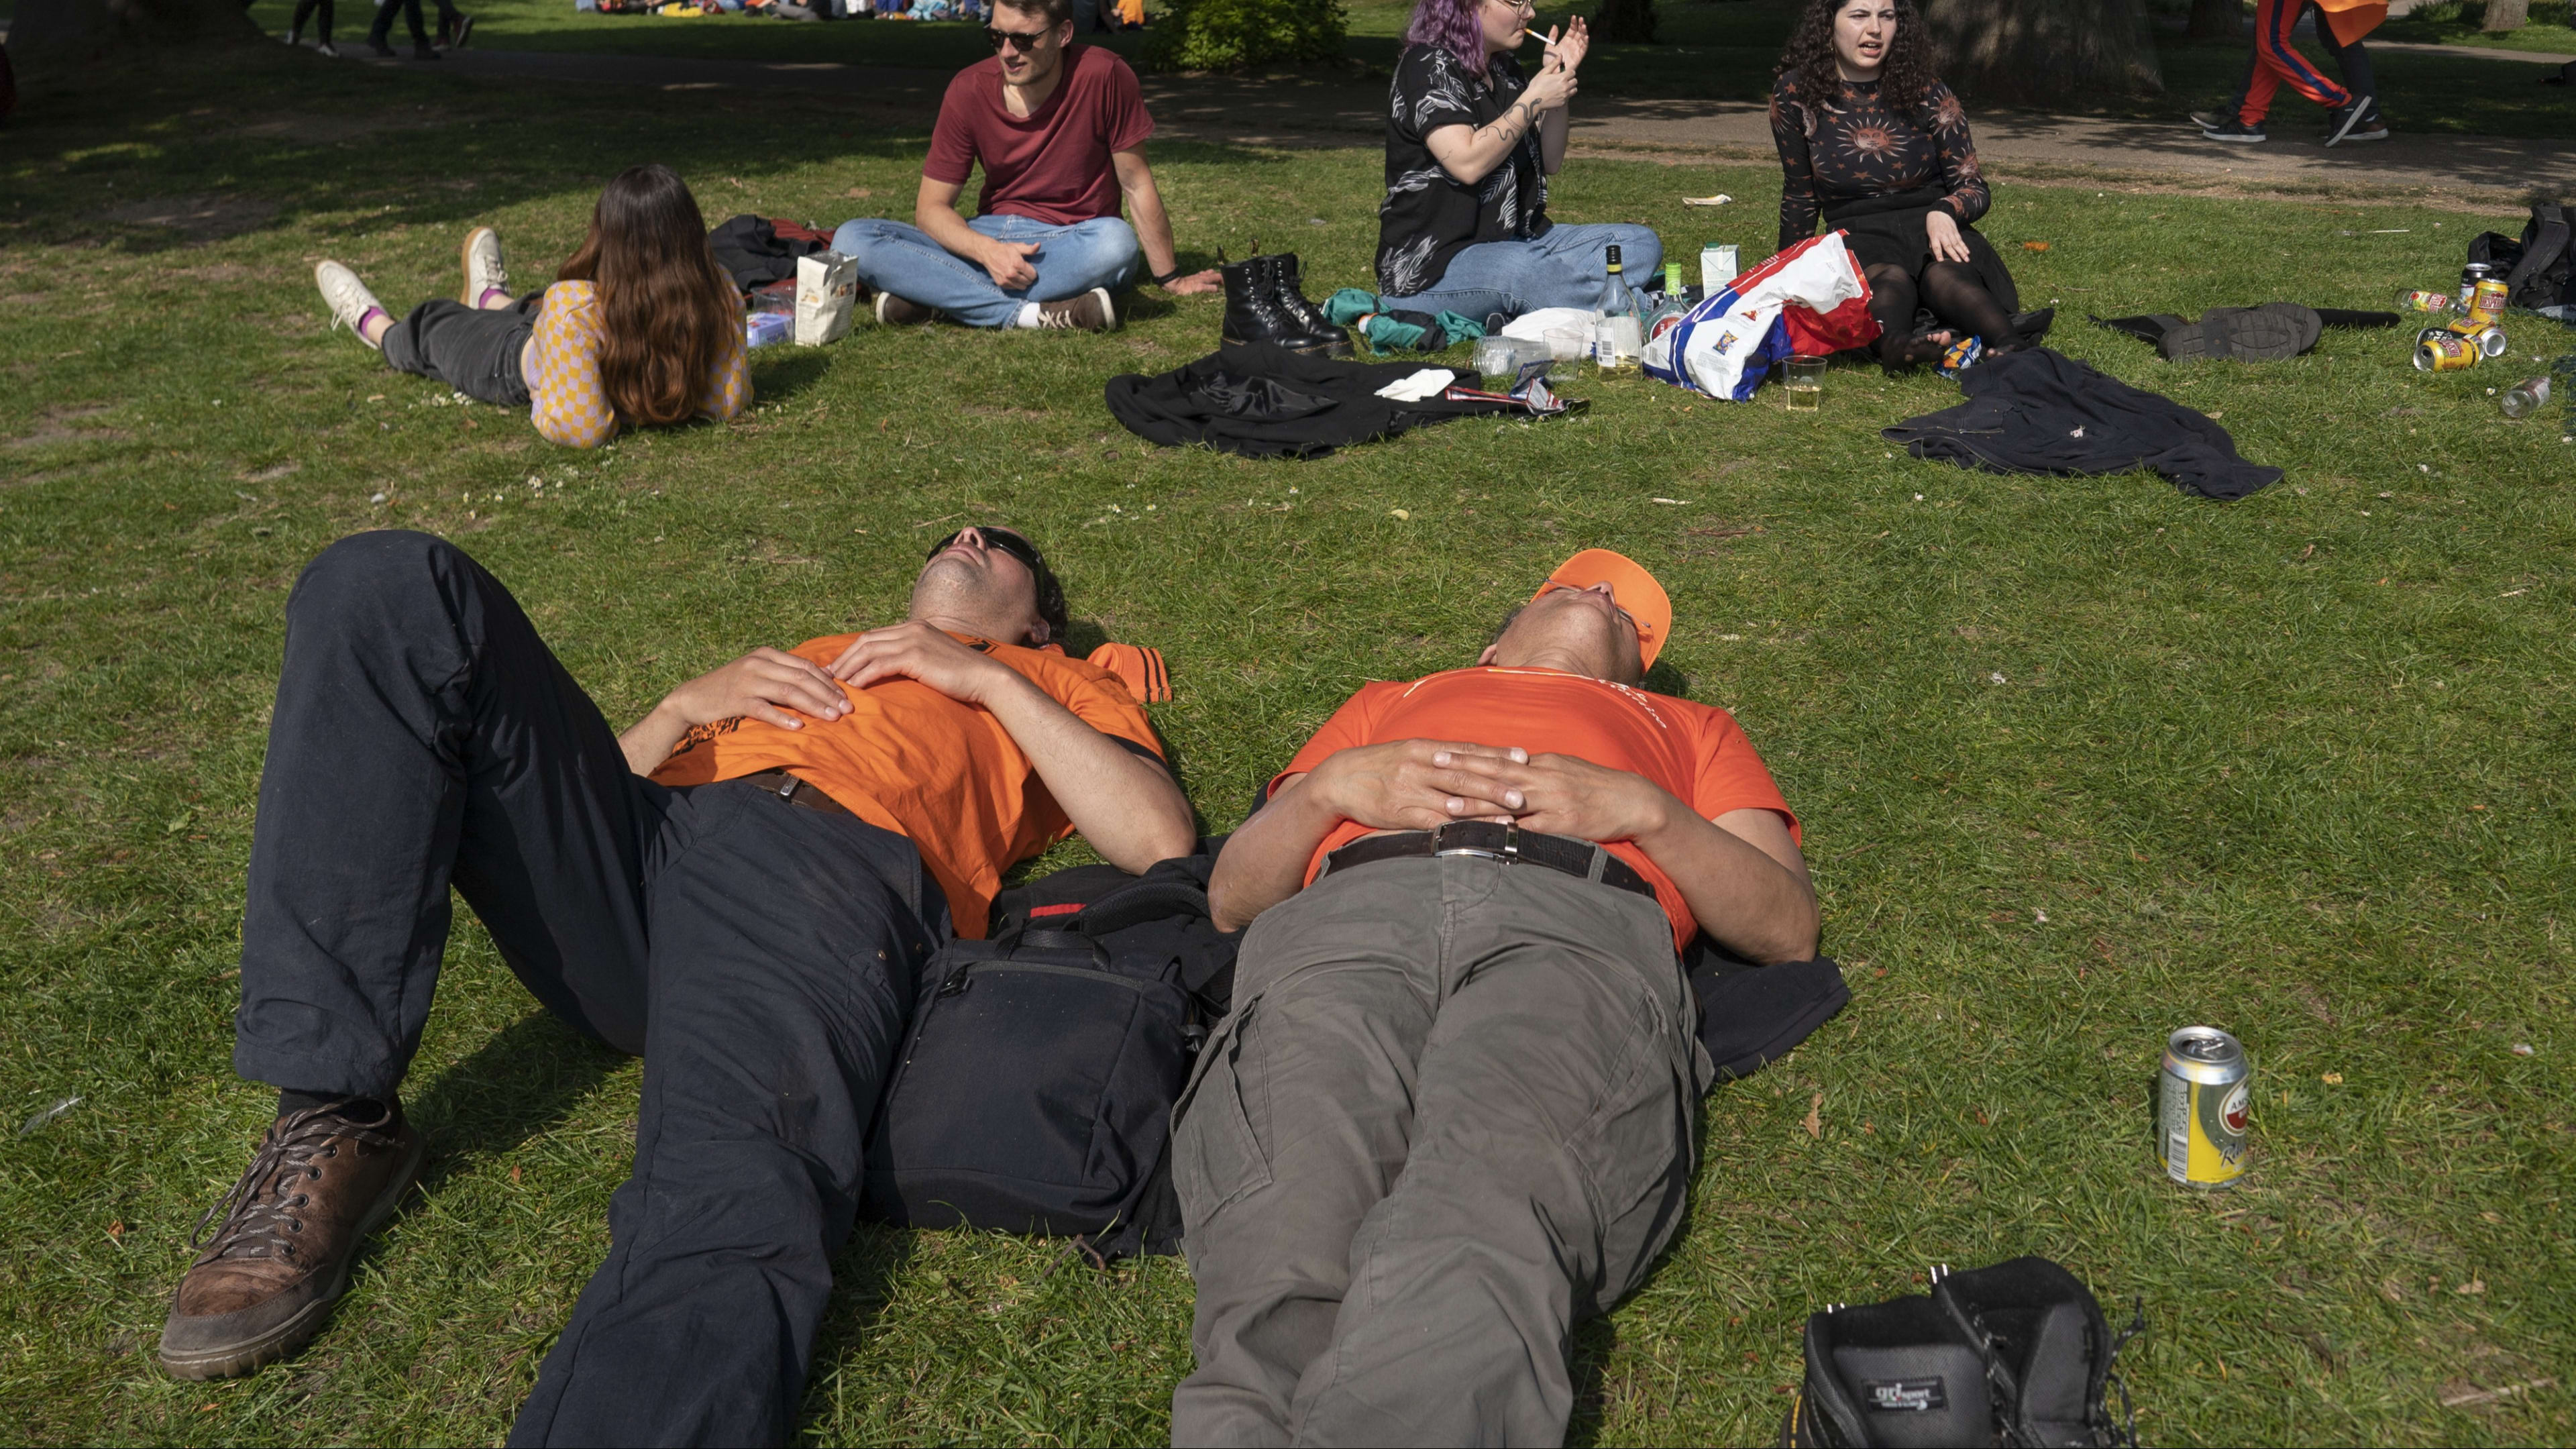
[[[1123,871],[1188,856],[1198,843],[1190,802],[1162,761],[1128,753],[1020,670],[969,650],[938,627],[914,621],[868,629],[832,660],[829,676],[853,688],[917,678],[948,699],[981,704],[1010,730],[1074,830]]]

